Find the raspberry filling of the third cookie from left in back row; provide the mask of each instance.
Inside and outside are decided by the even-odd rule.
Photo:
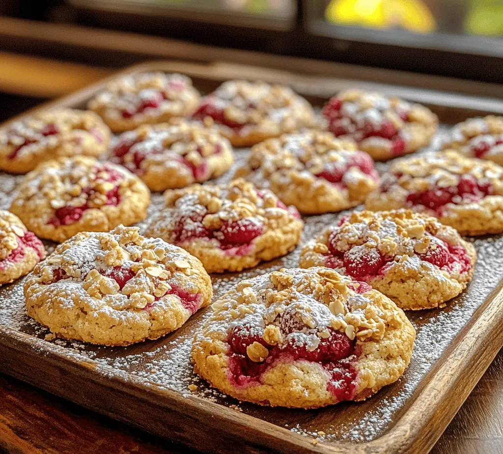
[[[323,107],[322,114],[328,120],[328,129],[335,136],[351,134],[357,141],[362,141],[368,137],[382,137],[391,140],[391,153],[393,156],[404,154],[406,143],[399,136],[399,131],[395,125],[387,120],[382,111],[379,112],[380,119],[377,121],[374,116],[357,122],[341,112],[344,102],[337,97],[331,98]],[[405,122],[409,121],[408,113],[397,110],[396,114]]]

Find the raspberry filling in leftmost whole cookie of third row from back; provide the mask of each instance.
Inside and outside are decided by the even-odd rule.
[[[98,174],[103,171],[108,173],[108,178],[104,180],[105,182],[116,183],[120,182],[124,178],[124,176],[120,172],[105,164],[102,168],[95,169],[94,181],[98,179]],[[88,197],[93,195],[95,192],[96,190],[92,186],[88,186],[82,189],[82,193],[87,194]],[[119,194],[119,185],[107,191],[105,196],[107,200],[104,206],[106,205],[117,206],[121,201],[121,196]],[[54,216],[51,219],[49,219],[47,223],[53,224],[55,226],[72,224],[73,222],[78,221],[82,217],[84,211],[90,208],[91,207],[89,206],[88,202],[80,206],[71,206],[71,205],[63,206],[61,208],[56,209],[56,211],[54,212]]]

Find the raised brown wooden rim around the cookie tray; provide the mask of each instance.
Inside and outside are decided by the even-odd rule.
[[[212,63],[212,64],[196,64],[196,63],[186,63],[186,62],[175,62],[175,61],[153,61],[153,62],[145,62],[136,64],[130,67],[127,67],[117,73],[112,74],[110,77],[103,79],[102,81],[98,81],[95,84],[92,84],[84,89],[81,89],[75,93],[67,95],[58,100],[50,101],[44,103],[42,105],[36,106],[29,111],[18,115],[4,124],[10,123],[11,121],[18,119],[27,115],[28,113],[46,109],[48,107],[65,107],[75,105],[77,103],[81,103],[82,101],[89,98],[90,94],[96,92],[96,90],[106,84],[111,79],[114,79],[120,75],[135,73],[144,70],[166,70],[166,71],[178,71],[184,72],[188,75],[192,75],[192,77],[204,77],[208,79],[214,80],[222,80],[222,79],[230,79],[230,78],[244,78],[244,74],[248,74],[251,66],[238,65],[238,64],[227,64],[227,63]],[[311,77],[311,76],[303,76],[302,74],[294,74],[289,73],[287,71],[282,70],[268,70],[260,67],[253,67],[260,71],[260,78],[262,80],[266,80],[268,82],[277,82],[284,83],[287,85],[294,86],[301,94],[306,94],[302,88],[296,87],[296,84],[292,84],[292,78],[297,83],[299,81],[303,81],[303,85],[306,86],[308,84],[324,84],[326,81],[330,81],[330,84],[323,85],[324,90],[328,90],[331,87],[334,88],[334,91],[343,89],[347,87],[347,83],[351,81],[345,81],[342,79],[336,78],[320,78],[320,77]],[[222,72],[225,71],[225,72]],[[243,72],[244,71],[244,72]],[[230,76],[229,76],[230,73]],[[227,75],[225,75],[227,74]],[[334,85],[331,85],[331,84]],[[403,96],[399,91],[389,91],[386,90],[386,87],[390,88],[398,88],[398,89],[406,89],[406,87],[395,87],[395,86],[385,86],[377,83],[362,83],[360,81],[353,81],[351,85],[370,88],[374,90],[383,90],[388,94]],[[384,87],[384,89],[383,89]],[[411,101],[422,102],[426,104],[434,104],[443,107],[452,107],[454,109],[469,109],[473,110],[474,103],[483,103],[484,106],[489,108],[489,111],[494,112],[503,112],[503,101],[494,98],[482,98],[475,97],[469,95],[458,95],[458,94],[448,94],[446,97],[446,93],[439,91],[432,91],[426,89],[406,89],[408,90],[409,96],[404,96]],[[439,99],[440,98],[440,99]],[[502,281],[503,282],[503,281]],[[476,383],[479,381],[480,377],[487,369],[492,359],[498,352],[498,350],[503,346],[503,333],[499,334],[497,330],[494,328],[503,320],[503,289],[502,283],[497,287],[497,290],[494,290],[484,304],[477,310],[476,314],[470,319],[470,328],[465,333],[465,330],[462,330],[458,336],[463,336],[461,342],[453,349],[452,352],[449,352],[448,360],[444,363],[439,370],[436,371],[434,376],[434,380],[430,382],[425,389],[422,391],[420,396],[416,398],[416,400],[412,403],[410,408],[405,412],[404,415],[397,421],[395,426],[393,426],[386,434],[382,437],[379,437],[370,442],[363,442],[357,445],[349,445],[347,443],[338,443],[338,442],[330,442],[323,443],[320,442],[318,444],[312,444],[311,438],[302,436],[300,434],[291,432],[283,427],[276,426],[274,424],[268,423],[266,421],[260,420],[258,418],[254,418],[252,416],[239,414],[227,407],[214,404],[208,402],[204,399],[192,396],[189,399],[184,398],[180,395],[180,393],[163,389],[155,384],[151,384],[151,386],[145,386],[143,383],[136,383],[136,386],[140,389],[140,396],[136,396],[135,393],[132,393],[131,388],[128,387],[128,384],[134,383],[134,376],[129,375],[128,381],[124,380],[124,376],[127,375],[125,372],[117,371],[109,366],[101,366],[100,369],[106,370],[108,369],[108,376],[112,378],[110,382],[112,383],[115,391],[122,392],[124,394],[133,395],[135,397],[141,398],[145,395],[152,395],[152,392],[158,395],[159,399],[165,400],[162,402],[162,406],[166,409],[178,410],[177,414],[185,415],[185,412],[181,412],[180,408],[184,408],[187,401],[191,402],[191,408],[193,408],[197,414],[201,414],[204,418],[207,417],[207,413],[205,411],[211,411],[217,409],[218,412],[223,412],[223,420],[227,423],[230,423],[229,427],[226,425],[222,425],[222,421],[216,421],[216,418],[212,420],[212,424],[208,424],[208,426],[214,427],[218,430],[222,430],[222,427],[225,427],[225,433],[230,437],[229,440],[232,440],[232,448],[235,449],[237,447],[236,442],[241,439],[246,439],[252,443],[257,443],[258,439],[264,439],[264,442],[260,442],[259,444],[255,444],[255,447],[259,446],[267,446],[273,447],[275,450],[281,452],[331,452],[331,453],[347,453],[347,452],[355,452],[355,453],[399,453],[399,452],[425,452],[431,449],[431,447],[435,444],[437,439],[443,433],[451,419],[457,413],[459,408],[461,407],[464,400],[468,397],[471,390],[474,388]],[[490,312],[490,316],[487,314]],[[478,317],[477,317],[478,313]],[[485,327],[486,331],[483,332],[482,335],[477,334],[478,328]],[[465,333],[465,334],[463,334]],[[141,423],[138,423],[134,419],[129,419],[127,414],[124,413],[124,409],[120,408],[120,405],[117,405],[117,411],[107,412],[103,411],[102,408],[98,408],[94,406],[92,402],[88,402],[86,399],[83,399],[82,396],[72,395],[67,390],[70,387],[63,386],[58,389],[52,383],[45,383],[40,380],[40,377],[36,377],[33,368],[30,367],[30,362],[26,364],[19,363],[17,367],[16,365],[12,366],[8,361],[8,353],[15,352],[21,349],[13,348],[13,340],[16,340],[19,344],[22,344],[24,347],[28,347],[33,350],[33,358],[42,359],[42,361],[47,362],[47,364],[55,364],[57,366],[58,362],[65,361],[71,367],[75,367],[76,371],[72,377],[73,379],[78,379],[82,373],[91,373],[90,381],[95,381],[96,374],[92,374],[92,370],[95,369],[94,362],[91,360],[88,361],[72,361],[70,358],[62,354],[64,351],[63,347],[59,347],[53,344],[48,344],[41,339],[34,338],[29,335],[25,335],[23,333],[19,333],[15,330],[12,330],[5,326],[0,326],[0,364],[3,365],[2,372],[9,373],[23,381],[31,383],[39,388],[42,388],[48,392],[61,396],[63,398],[72,400],[80,405],[83,405],[91,410],[99,411],[107,414],[115,419],[119,419],[121,421],[127,422],[131,425],[135,425],[147,431],[154,432],[161,436],[166,436],[165,431],[157,432],[152,430],[151,427],[145,427]],[[36,342],[34,342],[36,341]],[[490,341],[490,342],[488,342]],[[18,345],[19,345],[18,344]],[[45,352],[44,356],[40,356],[40,350],[46,350],[46,347],[50,345],[49,351]],[[482,345],[489,345],[488,348],[482,350],[478,353],[482,353],[481,356],[475,357],[475,353],[470,355],[470,351],[474,351]],[[62,349],[61,352],[56,351],[57,349]],[[39,351],[37,351],[39,350]],[[444,353],[444,354],[447,354]],[[454,358],[456,360],[455,365],[447,364],[448,361]],[[90,364],[93,366],[90,366]],[[24,367],[23,367],[24,366]],[[4,369],[5,367],[5,369]],[[458,373],[457,377],[454,377],[452,371],[455,370]],[[460,380],[460,376],[462,372],[465,370],[471,370],[473,373],[470,375],[470,380],[466,384],[463,389],[463,393],[459,393],[455,389],[456,383]],[[77,373],[77,371],[79,373]],[[450,373],[450,372],[451,373]],[[446,377],[439,377],[439,375],[447,374]],[[122,375],[122,376],[119,376]],[[94,380],[93,380],[94,377]],[[66,380],[66,385],[71,385],[72,380]],[[118,385],[119,384],[119,385]],[[443,386],[442,391],[439,391],[438,386]],[[98,384],[96,384],[98,386]],[[106,388],[106,385],[101,385]],[[136,390],[138,391],[138,390]],[[146,394],[145,394],[146,393]],[[167,397],[166,397],[167,393]],[[452,398],[455,397],[456,405],[452,405]],[[181,399],[184,399],[182,402],[184,405],[180,407]],[[428,400],[430,399],[430,400]],[[149,405],[148,400],[145,399],[146,405]],[[426,404],[426,403],[435,403],[437,402],[437,407],[435,410],[431,410],[433,407],[425,408],[420,407],[418,403]],[[449,405],[447,405],[449,403]],[[173,407],[170,408],[170,405]],[[200,407],[200,408],[199,408]],[[417,407],[417,408],[416,408]],[[185,410],[185,408],[184,408]],[[204,410],[204,411],[203,411]],[[442,415],[442,424],[435,424],[433,419],[434,413],[438,410],[445,410]],[[199,411],[199,412],[198,412]],[[217,413],[218,413],[217,412]],[[211,413],[210,413],[211,415]],[[214,414],[212,415],[215,416]],[[201,419],[204,419],[201,418]],[[245,423],[245,420],[249,420],[249,418],[254,418],[254,432],[248,433],[249,425]],[[406,418],[415,418],[411,419],[412,422],[403,422]],[[420,424],[420,421],[425,421],[424,425]],[[260,427],[260,430],[259,430]],[[420,439],[419,434],[421,430],[427,431],[428,437],[423,437]],[[275,433],[277,432],[277,433]],[[268,437],[264,438],[264,434],[267,434]],[[237,437],[237,438],[235,438]],[[184,436],[176,436],[172,437],[175,441],[181,441],[198,449],[206,449],[208,450],[208,446],[201,447],[197,440],[194,440],[194,437],[191,435],[190,437]],[[424,439],[427,438],[427,439]],[[278,439],[281,440],[284,444],[278,444]],[[294,442],[292,443],[292,439]],[[196,441],[196,443],[195,443]],[[238,443],[241,444],[241,443]],[[390,451],[389,446],[393,446],[393,450]],[[246,444],[243,448],[249,449],[250,445]],[[295,449],[295,450],[292,450]],[[299,450],[300,449],[300,450]],[[254,451],[258,452],[258,451]],[[260,451],[259,451],[260,452]]]

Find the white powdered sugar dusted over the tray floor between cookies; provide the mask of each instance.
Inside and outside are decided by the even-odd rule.
[[[235,167],[242,165],[246,152],[238,152]],[[223,180],[233,174],[231,170]],[[0,207],[8,208],[14,182],[19,177],[0,175],[2,197]],[[222,181],[222,180],[220,180]],[[162,196],[153,195],[149,216],[162,206]],[[344,215],[347,213],[341,213]],[[283,267],[296,267],[300,249],[306,241],[315,238],[337,214],[305,217],[301,245],[287,257],[277,259],[242,273],[213,276],[215,298],[229,290],[242,279],[263,275]],[[414,392],[432,370],[435,362],[453,342],[461,329],[503,277],[503,238],[481,238],[473,241],[478,254],[473,281],[467,291],[443,310],[408,313],[416,330],[417,339],[409,368],[395,384],[382,389],[363,403],[342,403],[336,407],[319,410],[286,410],[239,403],[208,387],[193,373],[190,362],[192,339],[198,328],[209,317],[211,309],[193,316],[175,333],[156,341],[147,341],[129,347],[98,347],[75,341],[49,340],[61,347],[68,357],[93,360],[99,364],[98,373],[109,374],[109,367],[121,373],[124,380],[134,376],[144,383],[154,383],[161,388],[175,390],[182,395],[195,395],[234,408],[302,435],[317,437],[322,442],[344,440],[363,442],[382,436],[396,421],[403,407],[411,405]],[[48,247],[52,252],[52,247]],[[44,339],[48,331],[26,316],[22,286],[25,279],[0,289],[0,324]],[[320,315],[321,317],[321,315]],[[190,389],[189,389],[190,387]],[[328,416],[329,415],[329,416]],[[320,421],[323,421],[322,423]],[[327,422],[329,421],[329,422]],[[319,435],[318,432],[324,433]]]

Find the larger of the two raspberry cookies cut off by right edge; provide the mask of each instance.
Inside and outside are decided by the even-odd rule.
[[[366,206],[373,211],[410,208],[436,216],[461,235],[503,232],[503,168],[456,152],[399,160],[381,178]]]

